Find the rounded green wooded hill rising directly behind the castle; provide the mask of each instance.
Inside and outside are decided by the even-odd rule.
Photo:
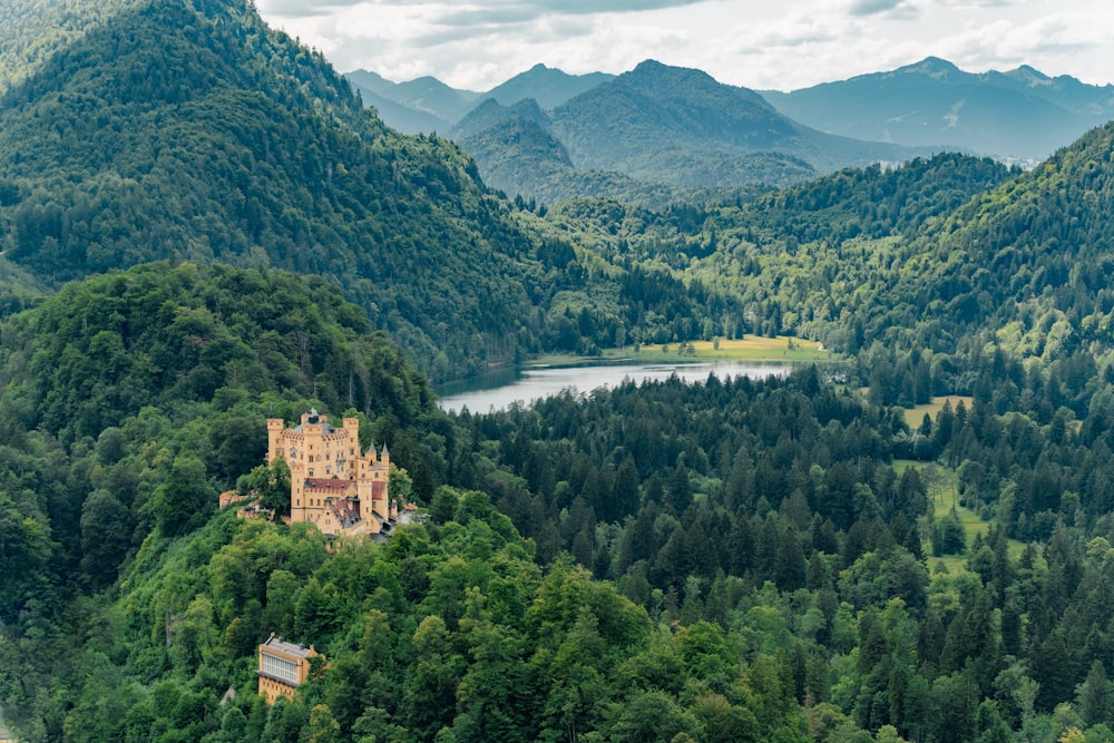
[[[71,284],[2,338],[4,620],[111,583],[155,528],[203,524],[260,462],[267,412],[304,400],[359,411],[433,487],[411,438],[424,378],[322,280],[149,264]]]

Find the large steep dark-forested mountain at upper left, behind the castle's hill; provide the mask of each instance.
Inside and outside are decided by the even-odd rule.
[[[385,127],[248,3],[137,2],[16,71],[0,274],[52,289],[170,256],[322,274],[442,378],[536,338],[541,268],[471,162]]]

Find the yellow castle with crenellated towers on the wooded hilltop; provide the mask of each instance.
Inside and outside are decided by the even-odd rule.
[[[296,428],[267,419],[267,462],[283,457],[290,467],[291,521],[306,521],[324,535],[387,536],[399,514],[388,490],[391,454],[384,446],[360,451],[360,420],[342,428],[316,410],[302,413]]]

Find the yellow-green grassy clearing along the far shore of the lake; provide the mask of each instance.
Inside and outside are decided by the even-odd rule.
[[[744,339],[729,341],[693,341],[688,344],[692,353],[680,353],[680,343],[642,345],[637,350],[627,345],[622,349],[607,349],[598,356],[577,356],[573,354],[551,354],[535,361],[535,364],[550,366],[573,365],[586,361],[623,361],[648,363],[684,363],[692,361],[754,361],[754,362],[831,362],[841,358],[828,351],[815,341],[779,335],[778,338],[761,338],[750,335]],[[719,345],[719,348],[716,348]]]

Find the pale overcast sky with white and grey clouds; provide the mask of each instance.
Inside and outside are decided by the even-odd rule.
[[[619,74],[644,59],[793,90],[928,56],[1114,81],[1112,0],[256,0],[342,72],[488,90],[541,62]]]

